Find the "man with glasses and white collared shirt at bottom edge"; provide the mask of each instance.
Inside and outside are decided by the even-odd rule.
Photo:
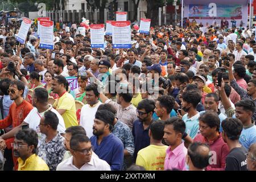
[[[93,155],[93,146],[85,134],[73,135],[70,140],[72,156],[61,162],[56,171],[110,171],[106,161]]]

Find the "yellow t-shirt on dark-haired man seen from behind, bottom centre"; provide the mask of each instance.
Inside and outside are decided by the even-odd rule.
[[[168,146],[150,145],[138,152],[136,165],[144,167],[147,171],[164,170],[164,158]]]

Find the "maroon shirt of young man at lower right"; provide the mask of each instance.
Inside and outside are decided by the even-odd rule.
[[[221,134],[212,142],[208,142],[202,134],[197,134],[193,142],[201,142],[208,144],[210,147],[211,157],[209,159],[209,166],[207,171],[224,171],[226,166],[226,156],[229,154],[228,144],[224,142]]]

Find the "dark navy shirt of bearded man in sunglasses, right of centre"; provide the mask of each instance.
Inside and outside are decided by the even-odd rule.
[[[138,151],[150,145],[150,137],[148,136],[148,130],[150,126],[144,130],[143,122],[136,119],[133,123],[133,138],[134,138],[134,161],[137,158]]]

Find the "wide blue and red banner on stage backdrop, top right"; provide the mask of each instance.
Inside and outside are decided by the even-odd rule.
[[[210,3],[209,5],[189,5],[189,18],[195,19],[242,19],[243,5],[219,5]]]

